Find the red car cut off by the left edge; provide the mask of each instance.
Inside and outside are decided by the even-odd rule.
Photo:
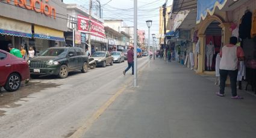
[[[6,91],[16,91],[21,81],[29,78],[30,69],[24,59],[0,50],[0,88],[4,86]]]

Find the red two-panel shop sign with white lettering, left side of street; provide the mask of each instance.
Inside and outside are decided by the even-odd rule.
[[[78,31],[89,33],[89,17],[77,16],[77,18],[78,18]],[[105,38],[105,29],[104,29],[104,25],[101,22],[91,19],[91,25],[92,25],[92,28],[90,31],[91,35]]]

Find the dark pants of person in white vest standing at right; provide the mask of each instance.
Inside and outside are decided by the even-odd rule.
[[[224,94],[226,86],[226,77],[229,76],[231,82],[232,96],[237,95],[237,70],[219,70],[220,72],[220,94]]]

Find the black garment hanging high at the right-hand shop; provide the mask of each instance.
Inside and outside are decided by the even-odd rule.
[[[251,29],[252,29],[252,13],[247,11],[240,20],[239,25],[239,37],[242,39],[251,39]]]

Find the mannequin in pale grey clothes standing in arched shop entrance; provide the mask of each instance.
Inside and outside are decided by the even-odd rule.
[[[213,55],[215,54],[213,42],[210,41],[209,44],[206,45],[206,57],[207,57],[207,70],[211,70],[211,65],[213,64]]]

